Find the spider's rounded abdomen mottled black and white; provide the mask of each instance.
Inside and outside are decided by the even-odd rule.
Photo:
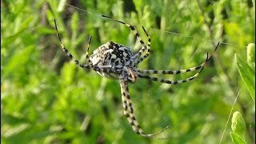
[[[115,42],[107,42],[94,50],[94,54],[90,55],[90,61],[94,66],[111,66],[122,67],[126,62],[134,56],[127,46]],[[98,72],[98,74],[106,78],[118,78],[118,72]]]

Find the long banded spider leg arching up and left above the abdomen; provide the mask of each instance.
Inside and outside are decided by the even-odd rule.
[[[141,45],[142,45],[142,49],[141,49],[141,50],[138,50],[138,53],[137,53],[137,54],[134,54],[134,56],[133,56],[131,59],[134,59],[134,61],[135,61],[134,63],[138,63],[137,58],[139,58],[139,57],[142,55],[142,53],[146,50],[145,42],[143,42],[143,40],[142,40],[140,34],[138,34],[138,31],[134,28],[134,26],[131,26],[129,23],[119,21],[119,20],[117,20],[117,19],[115,19],[115,18],[111,18],[111,17],[106,16],[106,15],[102,15],[102,17],[104,17],[104,18],[110,18],[110,19],[113,19],[113,20],[116,21],[116,22],[120,22],[120,23],[122,23],[123,25],[125,25],[125,26],[127,26],[127,27],[130,27],[130,30],[134,32],[134,34],[136,35],[138,41],[139,41],[139,42],[141,43]],[[143,28],[144,31],[146,31],[146,30],[144,29],[144,27],[142,27],[142,28]],[[147,34],[147,33],[146,33],[146,34]],[[147,34],[147,35],[148,35],[148,34]],[[150,42],[149,42],[149,43],[150,43]],[[146,57],[147,57],[147,56],[146,56]],[[137,62],[136,62],[136,61],[137,61]],[[141,61],[142,61],[142,60],[141,60]],[[140,62],[141,62],[141,61],[140,61]]]

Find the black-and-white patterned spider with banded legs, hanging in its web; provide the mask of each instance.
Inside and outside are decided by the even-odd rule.
[[[109,16],[106,16],[106,15],[102,15],[102,17],[110,18]],[[130,48],[128,48],[127,46],[118,44],[116,42],[107,42],[106,44],[99,46],[98,49],[94,50],[93,54],[89,56],[88,53],[89,53],[90,40],[91,40],[91,36],[90,36],[87,50],[86,50],[86,60],[89,62],[89,65],[80,64],[80,62],[78,62],[78,60],[75,59],[72,56],[72,54],[69,53],[69,51],[65,48],[65,46],[62,43],[62,38],[58,32],[58,27],[55,19],[54,19],[54,24],[55,24],[55,29],[57,32],[59,42],[66,56],[69,57],[71,60],[73,60],[77,66],[80,66],[84,69],[94,70],[98,74],[106,78],[118,79],[119,84],[121,86],[123,112],[128,122],[130,123],[130,126],[132,127],[132,129],[136,134],[140,134],[141,136],[147,137],[147,138],[154,138],[156,134],[162,133],[162,131],[166,130],[169,126],[166,126],[166,128],[153,134],[145,134],[143,132],[142,128],[138,124],[138,121],[134,117],[134,109],[130,99],[128,83],[136,82],[137,78],[146,78],[152,81],[167,83],[170,85],[175,85],[182,82],[189,82],[194,78],[198,77],[198,75],[202,72],[203,68],[206,66],[206,62],[209,61],[209,59],[212,57],[212,54],[214,54],[214,52],[217,50],[218,45],[215,47],[214,52],[210,54],[210,57],[208,56],[208,53],[206,54],[206,60],[202,62],[202,64],[199,66],[194,66],[186,70],[139,70],[138,64],[150,55],[150,42],[151,42],[150,35],[146,32],[144,26],[142,26],[142,30],[147,36],[147,45],[146,45],[145,42],[143,42],[142,38],[140,37],[140,34],[138,34],[137,30],[135,30],[134,26],[126,22],[121,22],[115,18],[110,18],[110,19],[116,22],[122,23],[125,26],[128,26],[130,30],[138,38],[138,41],[142,45],[142,48],[138,50],[137,53],[134,54],[132,51],[130,51]],[[146,54],[144,54],[144,52]],[[182,73],[186,73],[194,70],[199,70],[199,71],[198,73],[194,74],[190,78],[186,78],[183,80],[176,80],[176,81],[170,81],[162,78],[155,78],[148,75],[148,74],[182,74]]]

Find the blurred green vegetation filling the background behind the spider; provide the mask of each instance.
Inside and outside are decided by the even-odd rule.
[[[246,142],[254,143],[255,103],[234,59],[234,53],[246,59],[246,46],[254,43],[254,8],[250,0],[2,0],[1,142],[232,143],[231,123],[226,122],[239,111],[246,122]],[[159,137],[172,138],[134,134],[123,116],[118,81],[82,70],[62,52],[54,18],[64,45],[81,62],[86,62],[89,35],[90,54],[109,41],[134,52],[140,49],[129,28],[100,14],[135,25],[145,41],[141,26],[148,30],[152,53],[141,69],[197,66],[218,41],[227,42],[191,82],[170,86],[138,79],[129,85],[142,129],[154,133],[170,125]],[[156,76],[182,79],[193,74]]]

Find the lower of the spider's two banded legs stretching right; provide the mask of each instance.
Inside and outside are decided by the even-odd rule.
[[[208,58],[208,53],[207,53],[206,61],[202,64],[201,70],[198,73],[194,74],[192,77],[186,78],[186,79],[183,79],[183,80],[170,81],[170,80],[166,80],[166,79],[162,79],[162,78],[151,77],[151,76],[148,76],[148,75],[145,75],[145,74],[140,74],[140,73],[138,73],[138,77],[150,79],[150,80],[156,81],[156,82],[168,83],[168,84],[171,84],[171,85],[176,85],[176,84],[183,83],[183,82],[190,82],[194,78],[198,77],[198,75],[202,72],[203,68],[206,66],[206,62],[208,60],[209,60],[209,58]]]

